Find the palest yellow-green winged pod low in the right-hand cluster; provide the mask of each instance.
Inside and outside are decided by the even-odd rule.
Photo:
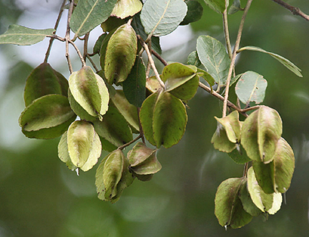
[[[248,191],[253,203],[262,211],[275,214],[281,207],[281,193],[266,194],[258,185],[252,167],[248,170]]]

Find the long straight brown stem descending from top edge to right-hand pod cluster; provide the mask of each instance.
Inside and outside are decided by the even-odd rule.
[[[248,11],[249,11],[251,3],[252,3],[252,0],[248,0],[247,5],[245,7],[245,10],[243,12],[243,16],[241,18],[240,24],[239,24],[239,29],[238,29],[238,33],[237,33],[235,47],[234,47],[233,54],[232,54],[232,59],[231,59],[231,64],[230,64],[230,68],[229,68],[229,73],[228,73],[227,79],[226,79],[226,88],[225,88],[225,95],[224,95],[224,101],[223,101],[222,117],[226,116],[226,106],[227,106],[227,99],[229,97],[229,88],[230,88],[232,72],[233,72],[233,68],[235,66],[235,59],[236,59],[237,50],[239,49],[241,34],[243,32],[243,25],[245,23],[245,19],[246,19],[246,16],[248,14]]]

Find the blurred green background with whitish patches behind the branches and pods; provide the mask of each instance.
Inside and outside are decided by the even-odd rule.
[[[308,0],[286,2],[309,13]],[[1,0],[0,33],[9,24],[53,28],[60,4],[60,0]],[[224,41],[222,16],[201,4],[204,15],[200,21],[162,39],[166,60],[186,62],[201,34]],[[64,26],[57,32],[61,36],[66,11],[63,18]],[[232,42],[240,18],[240,12],[229,16]],[[101,33],[96,32],[97,36]],[[96,35],[92,37],[94,42]],[[32,68],[43,62],[48,40],[36,46],[0,45],[0,236],[309,236],[308,39],[309,22],[270,0],[253,1],[240,46],[258,46],[290,59],[303,70],[303,78],[258,52],[242,52],[236,73],[252,70],[267,79],[263,104],[281,115],[282,136],[294,149],[296,167],[286,205],[282,204],[276,215],[266,222],[256,217],[241,229],[227,231],[214,215],[214,196],[223,180],[242,176],[243,166],[210,144],[216,129],[214,116],[221,116],[214,97],[198,90],[188,103],[183,139],[170,149],[159,150],[162,170],[149,182],[136,180],[111,204],[97,198],[94,182],[98,165],[77,176],[57,156],[59,138],[28,139],[18,126],[25,80]],[[54,47],[50,63],[68,77],[64,46],[55,43]],[[72,58],[78,70],[80,62]]]

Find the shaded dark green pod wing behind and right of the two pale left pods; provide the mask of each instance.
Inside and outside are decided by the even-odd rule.
[[[93,124],[99,136],[116,147],[126,144],[133,139],[129,124],[114,106],[109,106],[102,121],[97,119]]]

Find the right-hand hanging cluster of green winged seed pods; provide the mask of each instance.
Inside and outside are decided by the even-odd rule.
[[[275,214],[294,172],[294,153],[281,137],[278,112],[260,106],[243,122],[237,111],[216,119],[214,148],[229,153],[237,163],[252,162],[242,178],[227,179],[218,187],[215,214],[220,225],[239,228],[253,216]]]

